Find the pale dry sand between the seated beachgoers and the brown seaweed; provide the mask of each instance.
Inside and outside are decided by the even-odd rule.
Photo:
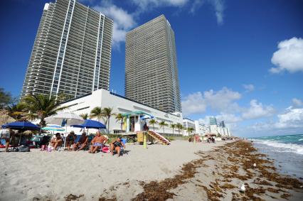
[[[0,200],[65,200],[70,194],[98,200],[106,190],[115,190],[117,200],[131,200],[143,191],[141,181],[174,176],[181,165],[199,158],[195,152],[211,151],[223,143],[173,141],[147,149],[127,144],[127,153],[119,158],[87,151],[1,152]]]

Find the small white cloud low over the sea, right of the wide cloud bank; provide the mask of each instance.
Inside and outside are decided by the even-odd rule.
[[[243,112],[243,119],[258,119],[275,114],[275,109],[272,106],[263,106],[256,99],[250,101],[250,108]]]

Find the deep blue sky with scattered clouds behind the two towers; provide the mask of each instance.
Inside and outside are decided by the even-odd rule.
[[[47,2],[0,3],[0,87],[14,96]],[[125,33],[164,13],[176,35],[184,116],[217,116],[240,136],[303,133],[303,1],[82,2],[115,21],[110,89],[118,94]]]

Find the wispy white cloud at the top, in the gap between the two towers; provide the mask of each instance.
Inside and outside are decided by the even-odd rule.
[[[127,31],[137,25],[134,16],[122,8],[112,4],[111,1],[102,1],[102,4],[94,6],[94,9],[104,13],[114,20],[112,33],[113,46],[119,48],[119,43],[125,40]]]

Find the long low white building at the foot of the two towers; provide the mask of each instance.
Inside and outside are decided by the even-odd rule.
[[[170,124],[182,124],[182,114],[167,113],[159,109],[149,107],[139,102],[134,102],[131,99],[122,97],[118,94],[109,92],[105,89],[98,89],[90,94],[77,99],[71,99],[68,102],[64,102],[61,106],[68,106],[63,112],[72,112],[74,114],[90,114],[95,107],[111,107],[112,113],[122,114],[125,118],[117,120],[115,115],[110,117],[110,133],[130,133],[136,131],[143,131],[144,124],[146,123],[149,130],[159,132],[159,134],[178,134],[178,131],[174,131],[169,126]],[[156,122],[165,121],[167,126],[160,127],[159,124],[149,124],[150,119],[153,118]],[[95,119],[105,124],[103,119]],[[107,124],[105,124],[107,126]],[[71,128],[77,130],[75,128]],[[108,128],[107,128],[108,129]],[[106,131],[105,131],[106,133]]]

